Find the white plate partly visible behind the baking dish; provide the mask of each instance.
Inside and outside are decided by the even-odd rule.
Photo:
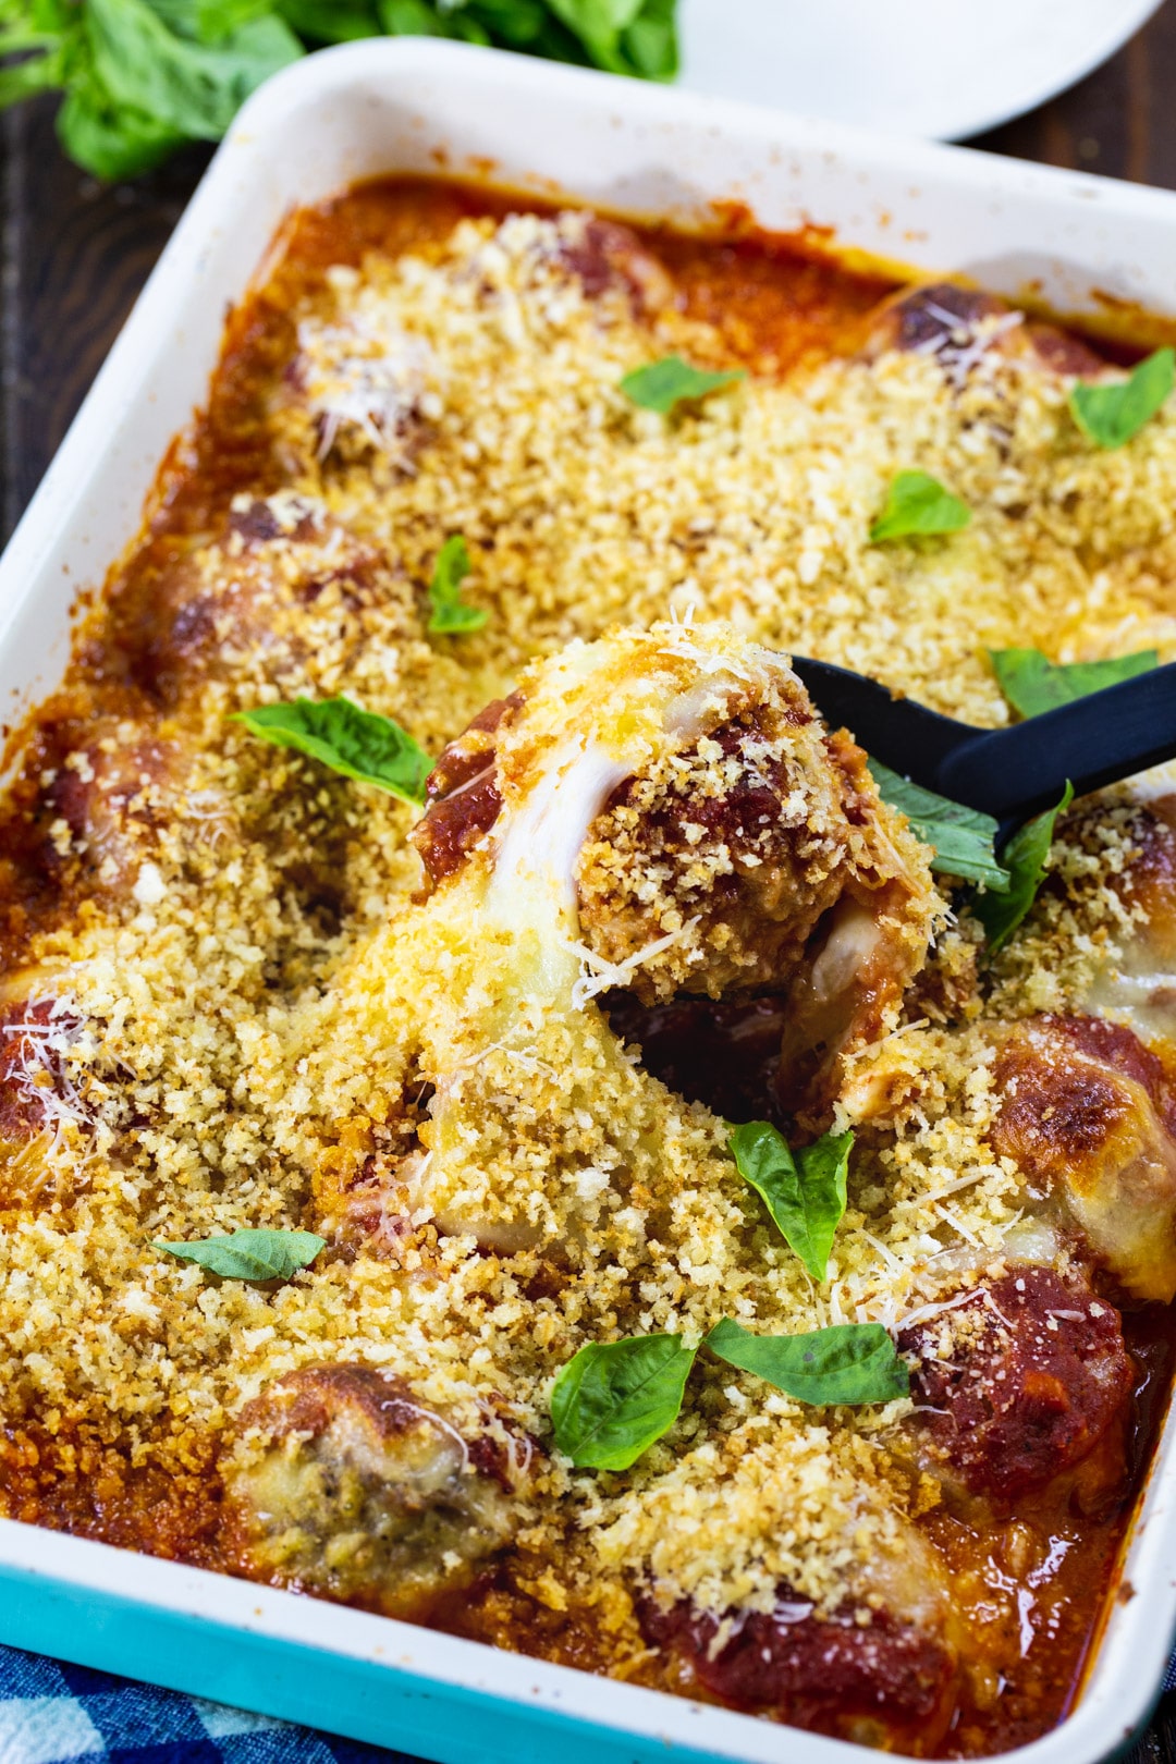
[[[957,141],[1105,62],[1158,0],[679,0],[681,83]]]

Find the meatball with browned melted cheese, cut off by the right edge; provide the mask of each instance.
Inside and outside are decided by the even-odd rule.
[[[993,1147],[1134,1300],[1176,1297],[1176,1081],[1121,1023],[1037,1016],[996,1060]]]

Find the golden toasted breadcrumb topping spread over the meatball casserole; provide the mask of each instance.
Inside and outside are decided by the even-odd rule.
[[[809,787],[822,732],[781,720],[792,686],[741,677],[756,646],[986,725],[1009,716],[987,647],[1176,656],[1176,413],[1098,452],[1067,379],[998,349],[963,377],[889,351],[638,409],[626,372],[670,351],[723,362],[723,342],[668,279],[587,293],[568,266],[584,224],[467,219],[331,270],[294,314],[266,416],[284,487],[240,496],[176,557],[160,593],[199,609],[201,637],[166,660],[146,796],[127,808],[123,792],[92,898],[5,981],[25,1009],[53,1002],[67,1081],[2,1178],[0,1408],[175,1473],[275,1379],[361,1362],[458,1429],[492,1408],[536,1441],[517,1544],[545,1558],[555,1609],[636,1582],[716,1612],[772,1609],[786,1582],[834,1609],[924,1547],[926,1491],[885,1446],[904,1399],[815,1409],[700,1357],[670,1432],[628,1473],[587,1473],[552,1445],[555,1372],[587,1342],[693,1346],[721,1318],[894,1330],[986,1270],[1065,1267],[991,1145],[994,1025],[1079,1007],[1137,933],[1116,882],[1130,804],[1111,794],[1063,824],[989,968],[964,896],[933,889],[926,848],[873,803],[894,873],[915,878],[894,908],[912,972],[933,949],[906,1007],[845,1053],[834,1127],[859,1134],[822,1286],[739,1177],[726,1124],[645,1071],[598,995],[705,991],[691,975],[709,963],[721,984],[753,967],[709,898],[774,861],[778,831],[741,843],[686,815],[691,863],[649,843],[651,817],[730,794],[741,767],[786,774],[815,912],[839,864],[878,861]],[[971,526],[871,545],[913,462]],[[487,621],[430,635],[427,587],[457,533]],[[735,748],[698,729],[705,691],[666,736],[666,693],[698,683]],[[227,720],[346,693],[435,757],[515,690],[499,741],[513,843],[485,841],[428,898],[414,808]],[[143,729],[104,739],[113,766]],[[102,789],[88,748],[67,764]],[[580,815],[569,861],[534,818],[550,778]],[[49,834],[79,854],[69,818]],[[328,1247],[280,1284],[152,1247],[259,1226]],[[249,1461],[256,1434],[227,1450]]]

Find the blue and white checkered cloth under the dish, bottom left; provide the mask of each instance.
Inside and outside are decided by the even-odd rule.
[[[0,1644],[0,1764],[418,1764]]]

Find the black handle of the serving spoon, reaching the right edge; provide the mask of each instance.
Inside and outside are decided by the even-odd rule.
[[[1010,729],[975,730],[940,748],[934,776],[924,762],[917,781],[1000,822],[1021,822],[1053,808],[1067,778],[1084,796],[1174,757],[1176,662]]]

